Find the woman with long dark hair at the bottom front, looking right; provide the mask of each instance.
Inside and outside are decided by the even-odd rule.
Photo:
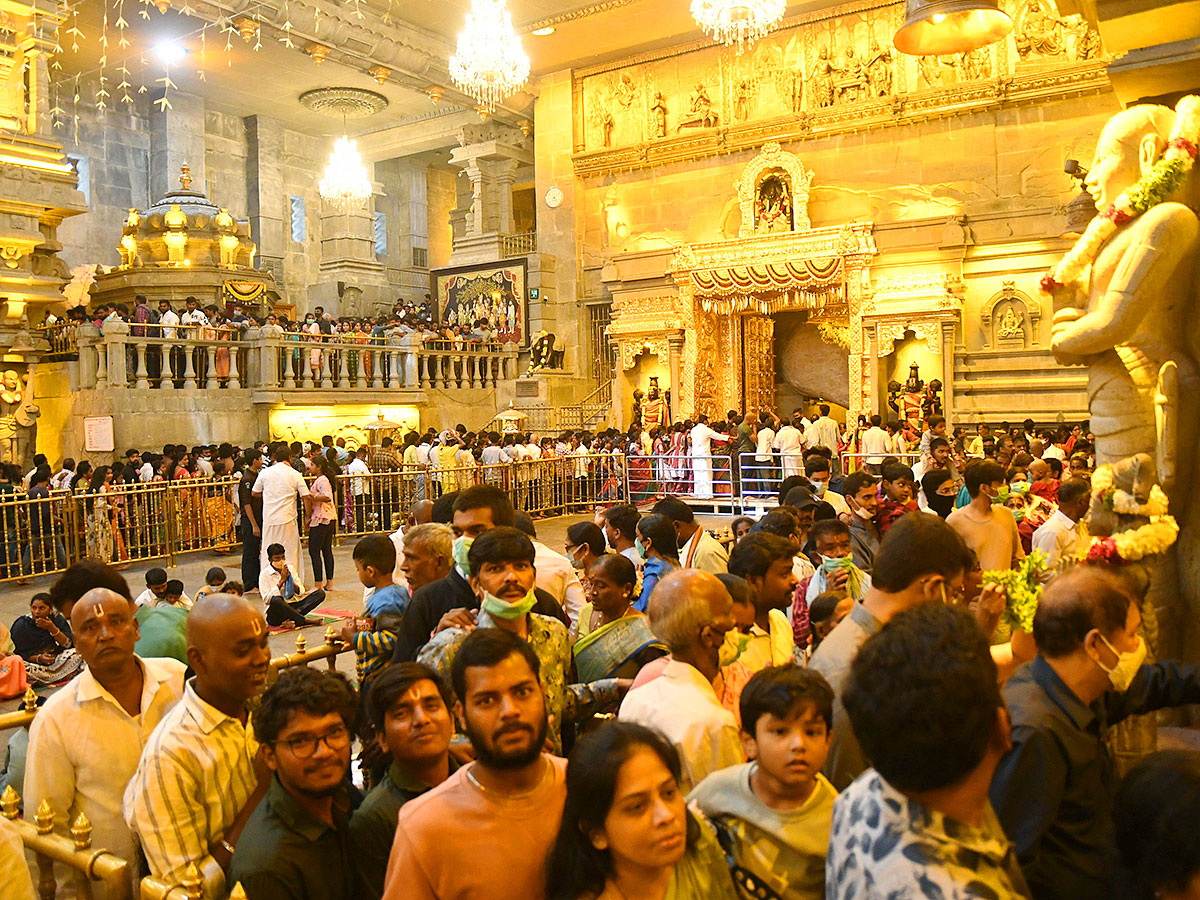
[[[607,722],[575,745],[546,898],[736,900],[716,833],[689,812],[679,755],[656,731]]]

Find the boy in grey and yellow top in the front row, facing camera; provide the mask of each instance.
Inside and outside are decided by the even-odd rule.
[[[781,900],[821,900],[838,796],[821,774],[833,689],[796,665],[758,672],[742,691],[742,745],[751,762],[715,772],[691,792],[732,847],[743,895],[763,886]]]

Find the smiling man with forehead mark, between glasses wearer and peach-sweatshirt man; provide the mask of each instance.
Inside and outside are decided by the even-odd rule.
[[[458,768],[450,756],[450,697],[438,673],[420,662],[397,662],[371,685],[367,710],[376,740],[391,754],[391,764],[350,818],[362,900],[383,895],[401,806]]]

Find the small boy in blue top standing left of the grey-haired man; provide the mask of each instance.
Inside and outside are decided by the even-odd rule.
[[[354,545],[354,569],[366,588],[374,588],[366,601],[366,617],[342,626],[342,640],[354,644],[359,680],[366,684],[388,665],[396,647],[396,630],[404,618],[408,590],[391,580],[396,568],[396,545],[384,534],[371,534]]]

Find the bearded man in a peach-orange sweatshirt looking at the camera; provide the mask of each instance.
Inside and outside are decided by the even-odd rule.
[[[451,680],[475,762],[401,809],[384,900],[540,900],[566,761],[542,752],[538,655],[510,631],[481,628],[458,648]]]

